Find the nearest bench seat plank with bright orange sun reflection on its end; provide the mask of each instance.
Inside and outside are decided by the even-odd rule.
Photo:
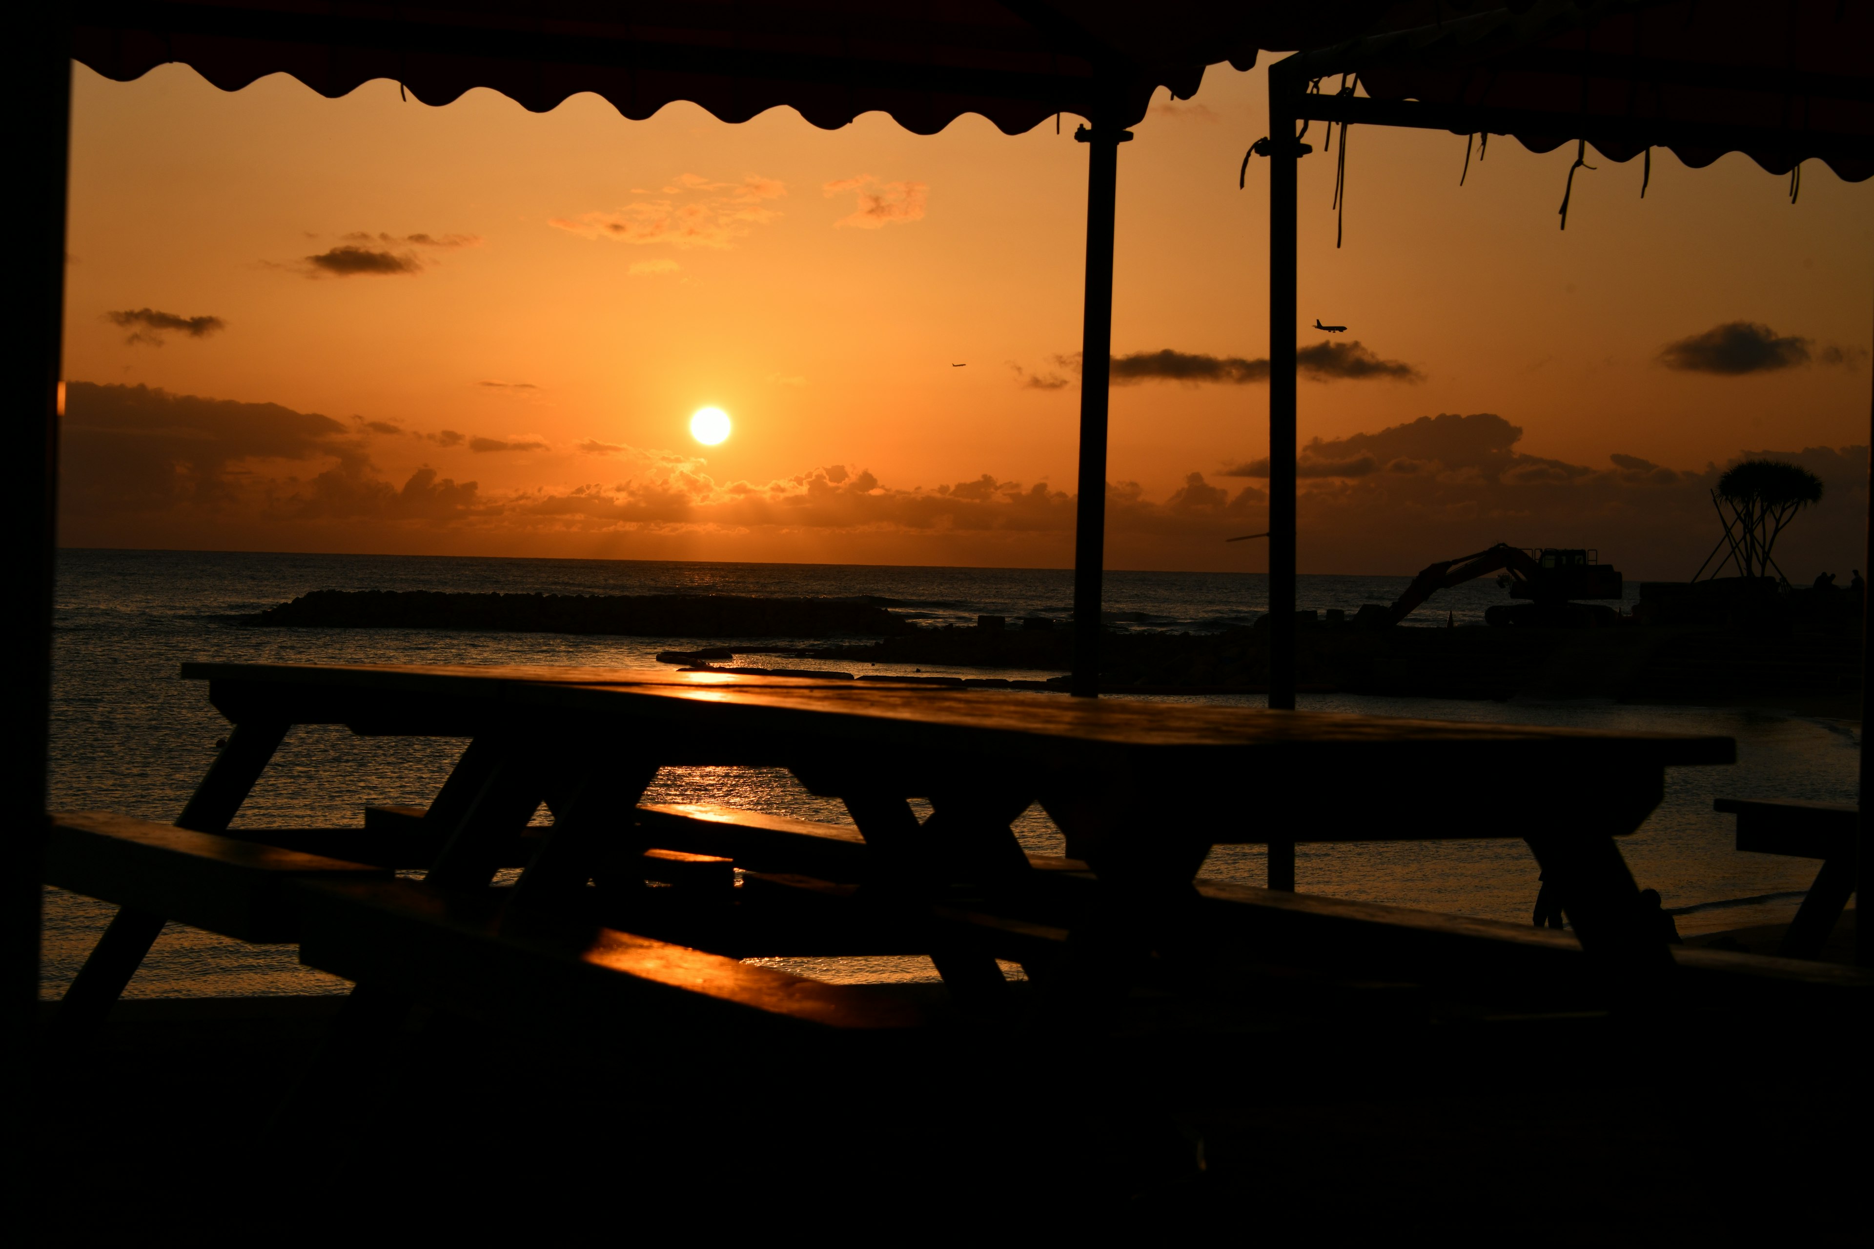
[[[307,966],[555,1043],[781,1026],[901,1032],[903,1000],[823,985],[613,929],[502,914],[489,891],[405,880],[300,889]],[[746,1034],[731,1032],[742,1037]]]

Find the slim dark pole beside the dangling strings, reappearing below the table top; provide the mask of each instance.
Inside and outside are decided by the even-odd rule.
[[[1295,84],[1269,67],[1269,706],[1295,708]],[[1295,888],[1295,843],[1269,843],[1269,888]]]

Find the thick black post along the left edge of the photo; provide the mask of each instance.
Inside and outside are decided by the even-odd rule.
[[[34,1024],[39,1002],[39,878],[45,852],[45,745],[52,685],[52,552],[58,489],[58,373],[66,315],[66,170],[71,131],[71,17],[67,6],[24,6],[13,17],[7,116],[15,155],[11,185],[24,242],[17,292],[21,320],[7,335],[6,371],[13,513],[7,610],[6,771],[0,781],[0,996],[4,996],[6,1144],[4,1197],[13,1212],[32,1191],[36,1080]],[[19,1215],[19,1227],[32,1227]],[[30,1236],[30,1232],[28,1232]]]

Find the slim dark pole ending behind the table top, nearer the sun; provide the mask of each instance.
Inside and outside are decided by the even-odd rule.
[[[1079,506],[1074,515],[1074,682],[1100,697],[1100,575],[1106,567],[1106,414],[1113,360],[1113,202],[1119,144],[1132,131],[1081,125],[1087,144],[1087,296],[1079,335]]]

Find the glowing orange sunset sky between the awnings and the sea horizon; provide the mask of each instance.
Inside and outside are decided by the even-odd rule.
[[[1072,558],[1078,389],[1023,384],[1070,376],[1055,356],[1079,339],[1072,118],[916,137],[688,105],[626,122],[590,96],[429,109],[392,82],[223,94],[176,66],[75,79],[66,376],[96,386],[67,416],[67,543]],[[1115,352],[1267,354],[1267,174],[1237,189],[1261,97],[1261,73],[1212,69],[1121,150]],[[1570,159],[1499,139],[1460,189],[1462,137],[1362,129],[1338,251],[1332,163],[1302,163],[1304,324],[1347,324],[1419,376],[1304,380],[1302,442],[1439,412],[1524,431],[1477,464],[1411,444],[1312,478],[1304,571],[1411,571],[1503,537],[1683,577],[1709,463],[1867,442],[1874,184],[1808,169],[1792,206],[1745,157],[1658,154],[1642,202],[1638,163],[1591,157],[1561,232]],[[334,249],[358,251],[307,260]],[[332,273],[347,258],[403,272]],[[141,309],[223,324],[111,318]],[[1808,363],[1660,363],[1735,320],[1803,339],[1784,350]],[[97,389],[120,386],[277,408]],[[735,418],[720,448],[688,436],[703,404]],[[1115,389],[1111,566],[1261,567],[1220,537],[1256,521],[1261,481],[1224,474],[1267,455],[1265,406],[1257,382]],[[1853,459],[1810,522],[1818,560],[1859,558]],[[1540,498],[1537,461],[1569,466]]]

